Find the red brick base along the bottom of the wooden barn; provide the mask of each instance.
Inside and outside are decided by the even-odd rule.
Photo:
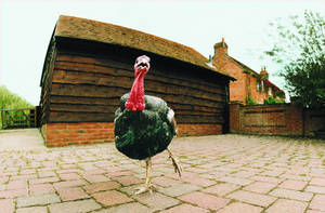
[[[179,136],[222,134],[220,124],[179,123]],[[48,147],[114,142],[113,122],[47,123],[41,133]]]

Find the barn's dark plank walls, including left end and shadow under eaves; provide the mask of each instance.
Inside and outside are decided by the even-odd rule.
[[[42,78],[42,123],[113,122],[120,96],[132,86],[133,63],[140,54],[152,57],[145,94],[165,99],[178,123],[225,122],[229,77],[112,44],[56,38],[54,48]]]

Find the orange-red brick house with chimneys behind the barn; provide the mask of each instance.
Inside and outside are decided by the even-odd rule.
[[[269,97],[285,99],[285,93],[269,80],[265,67],[260,74],[227,54],[227,45],[222,39],[214,44],[212,64],[218,70],[229,72],[236,81],[230,82],[230,101],[247,104],[247,99],[253,99],[263,104]]]

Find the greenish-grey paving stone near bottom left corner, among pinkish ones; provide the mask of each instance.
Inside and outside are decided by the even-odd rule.
[[[17,198],[17,208],[43,205],[60,202],[58,196],[55,194],[20,197]]]

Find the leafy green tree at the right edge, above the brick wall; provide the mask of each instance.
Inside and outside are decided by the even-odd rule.
[[[264,54],[281,65],[289,95],[303,106],[325,106],[324,17],[306,11],[303,16],[278,18],[270,26],[275,43]]]

